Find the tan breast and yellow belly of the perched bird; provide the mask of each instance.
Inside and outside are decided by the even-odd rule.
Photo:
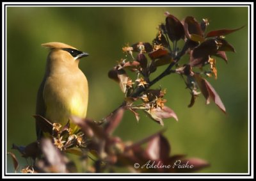
[[[67,76],[67,75],[62,75]],[[51,76],[45,81],[44,101],[46,106],[45,118],[50,122],[65,125],[71,115],[86,117],[88,106],[88,83],[86,77],[79,76],[65,81],[65,77]],[[58,84],[56,84],[58,82]],[[70,122],[70,127],[76,125]]]

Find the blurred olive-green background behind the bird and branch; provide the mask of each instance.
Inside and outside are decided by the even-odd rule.
[[[88,118],[100,120],[119,106],[124,98],[118,84],[108,78],[116,61],[124,58],[126,43],[151,42],[164,12],[182,20],[191,15],[210,20],[207,29],[245,27],[227,35],[236,53],[227,52],[228,64],[217,59],[218,79],[209,82],[218,91],[227,115],[214,103],[205,106],[201,95],[188,108],[189,91],[179,75],[165,77],[155,87],[167,88],[167,106],[179,122],[164,120],[164,133],[172,145],[172,155],[182,153],[211,163],[202,173],[245,173],[248,171],[248,9],[246,7],[8,7],[7,8],[7,150],[12,143],[35,141],[36,92],[42,81],[47,49],[41,43],[63,42],[90,54],[80,62],[88,78],[90,99]],[[188,61],[184,57],[181,63]],[[159,68],[154,76],[163,71]],[[137,141],[161,125],[141,113],[137,123],[125,113],[114,132],[125,141]],[[13,172],[8,157],[8,172]]]

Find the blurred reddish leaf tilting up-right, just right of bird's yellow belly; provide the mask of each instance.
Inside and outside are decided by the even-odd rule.
[[[119,107],[106,118],[106,125],[104,125],[104,130],[106,134],[112,134],[112,132],[121,122],[123,115],[124,107]]]

